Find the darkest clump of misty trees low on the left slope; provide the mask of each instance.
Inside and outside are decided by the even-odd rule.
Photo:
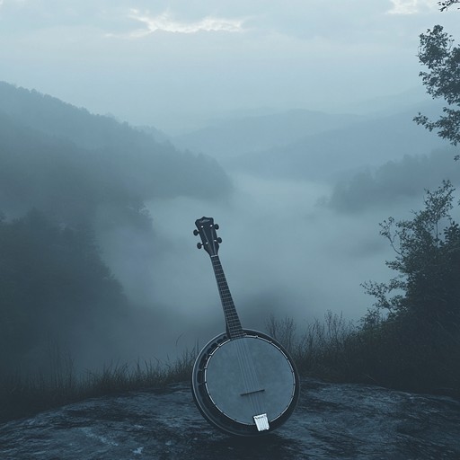
[[[4,376],[18,365],[43,365],[50,339],[64,348],[76,349],[81,337],[114,348],[120,338],[106,330],[125,325],[127,315],[128,301],[90,231],[54,223],[36,209],[12,221],[0,217]]]

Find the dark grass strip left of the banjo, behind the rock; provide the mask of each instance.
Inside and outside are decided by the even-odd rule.
[[[185,349],[174,361],[110,363],[101,371],[77,375],[73,359],[53,350],[48,372],[15,372],[0,376],[0,422],[31,416],[86,398],[161,388],[188,380],[197,349]]]

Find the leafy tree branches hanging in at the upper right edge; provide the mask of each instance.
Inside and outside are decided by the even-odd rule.
[[[460,48],[453,44],[452,36],[443,31],[440,25],[420,35],[418,57],[429,70],[419,75],[433,99],[443,98],[447,106],[443,107],[444,115],[435,121],[421,113],[414,120],[429,131],[437,129],[439,137],[456,146],[460,142]],[[456,155],[456,160],[459,157]]]

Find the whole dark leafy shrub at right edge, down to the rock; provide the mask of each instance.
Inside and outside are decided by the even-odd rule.
[[[460,226],[451,217],[454,191],[444,181],[438,190],[427,190],[425,208],[411,219],[389,217],[381,224],[396,254],[385,263],[397,275],[363,285],[376,303],[357,334],[364,358],[356,369],[381,385],[460,391]]]

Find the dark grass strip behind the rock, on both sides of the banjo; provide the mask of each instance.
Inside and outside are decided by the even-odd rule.
[[[355,325],[327,312],[323,321],[314,320],[299,332],[292,318],[271,316],[266,329],[288,349],[301,375],[460,395],[460,327],[447,333],[429,324],[420,335],[417,328],[411,332],[400,323],[373,319]],[[0,376],[0,421],[89,397],[189,380],[198,351],[196,346],[174,361],[111,363],[101,371],[77,375],[72,358],[52,349],[48,373]]]

